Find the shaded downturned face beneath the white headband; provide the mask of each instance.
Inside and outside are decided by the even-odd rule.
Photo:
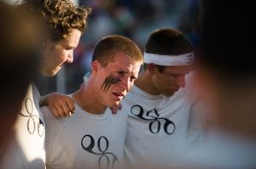
[[[185,75],[190,66],[166,66],[162,73],[155,67],[152,83],[156,93],[172,96],[180,87],[185,87]]]

